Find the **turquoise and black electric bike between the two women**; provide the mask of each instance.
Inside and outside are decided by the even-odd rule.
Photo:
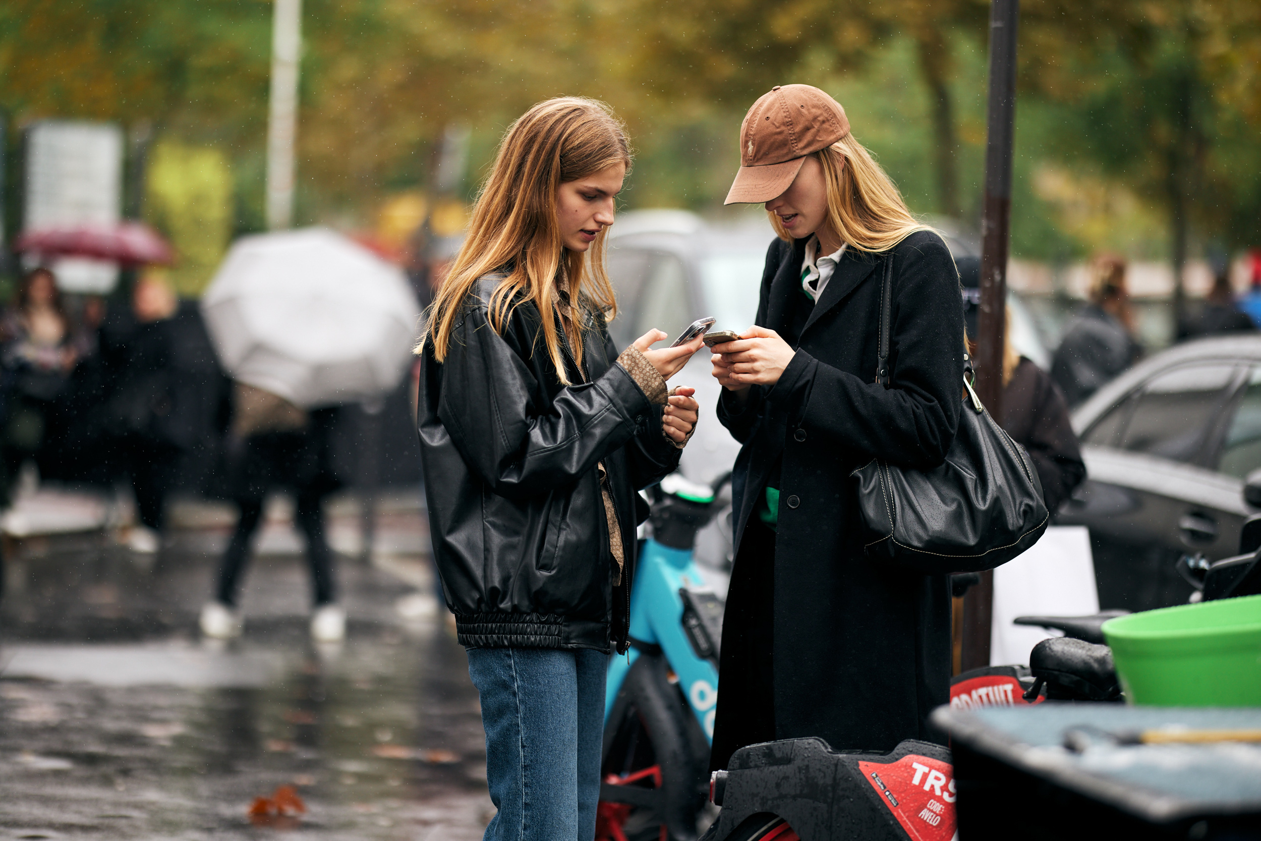
[[[723,599],[706,585],[692,547],[729,477],[710,487],[675,473],[649,490],[651,536],[641,541],[630,590],[630,651],[609,662],[598,841],[696,838]]]

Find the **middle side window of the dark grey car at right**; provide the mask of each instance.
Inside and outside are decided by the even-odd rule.
[[[1229,363],[1189,364],[1156,374],[1134,397],[1120,448],[1192,461],[1221,416],[1237,368]]]

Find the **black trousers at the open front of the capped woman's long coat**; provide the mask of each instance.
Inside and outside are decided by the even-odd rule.
[[[723,658],[710,770],[731,754],[776,739],[774,699],[776,533],[749,518],[731,566],[723,615]]]

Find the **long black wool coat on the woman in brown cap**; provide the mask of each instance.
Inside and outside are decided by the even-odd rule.
[[[806,240],[767,251],[757,323],[784,333],[801,296]],[[724,391],[718,415],[744,446],[733,477],[736,566],[740,541],[781,464],[774,538],[774,738],[822,736],[836,749],[890,750],[902,739],[941,740],[929,711],[950,700],[951,603],[944,575],[876,564],[863,551],[850,472],[871,460],[932,468],[958,426],[963,311],[958,274],[939,236],[915,232],[893,248],[890,371],[875,383],[885,255],[846,250],[774,386],[745,401]],[[741,596],[765,596],[743,590]],[[733,605],[729,617],[748,614]],[[762,605],[765,608],[767,605]],[[743,610],[741,610],[743,608]],[[765,738],[741,699],[755,668],[748,644],[724,629],[715,767],[729,750]]]

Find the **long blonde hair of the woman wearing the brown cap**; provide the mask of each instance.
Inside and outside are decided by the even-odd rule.
[[[827,182],[827,222],[851,248],[888,251],[915,231],[932,231],[910,214],[897,185],[852,134],[812,156]],[[779,217],[768,213],[779,238],[792,242]]]

